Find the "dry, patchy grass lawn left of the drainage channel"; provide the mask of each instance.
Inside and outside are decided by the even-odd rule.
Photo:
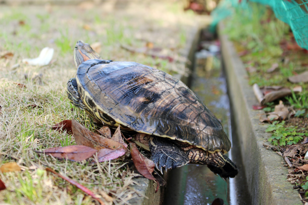
[[[114,204],[125,204],[136,196],[129,188],[136,174],[119,159],[89,164],[61,161],[34,150],[75,144],[71,136],[50,129],[65,119],[74,118],[92,131],[98,129],[91,117],[69,103],[66,95],[67,80],[76,72],[72,49],[77,40],[90,44],[101,42],[100,55],[105,59],[136,61],[166,72],[185,72],[184,62],[153,59],[120,48],[120,44],[143,47],[148,41],[163,48],[166,55],[180,56],[187,39],[186,31],[196,25],[195,17],[182,10],[174,12],[177,7],[169,11],[168,3],[151,2],[151,5],[155,9],[144,9],[144,5],[138,3],[111,13],[102,6],[86,11],[73,6],[53,6],[52,12],[40,6],[1,6],[0,50],[14,53],[14,57],[0,59],[0,164],[17,162],[23,171],[0,173],[7,187],[0,192],[0,201],[93,204],[91,197],[47,173],[45,167],[81,183],[95,194],[100,195],[100,191],[110,194]],[[19,25],[20,20],[25,25]],[[163,27],[159,21],[164,22]],[[83,29],[85,24],[90,30]],[[43,67],[21,63],[23,58],[37,57],[45,46],[55,49],[55,62]],[[16,63],[20,66],[11,69]],[[41,83],[34,81],[40,74]],[[21,88],[16,83],[26,87]],[[29,107],[33,104],[37,106]]]

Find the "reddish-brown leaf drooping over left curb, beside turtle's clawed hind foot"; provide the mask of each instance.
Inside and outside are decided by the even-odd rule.
[[[147,179],[156,180],[152,172],[154,171],[154,162],[145,158],[137,149],[135,143],[129,143],[131,155],[136,169]]]

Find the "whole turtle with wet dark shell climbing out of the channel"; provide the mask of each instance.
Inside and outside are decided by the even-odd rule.
[[[183,82],[137,62],[103,60],[82,41],[74,62],[70,102],[108,127],[135,132],[133,140],[151,152],[161,173],[195,163],[223,178],[237,175],[220,121]]]

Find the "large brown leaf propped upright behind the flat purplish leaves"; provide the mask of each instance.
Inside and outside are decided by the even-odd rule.
[[[72,131],[76,144],[85,145],[94,149],[100,150],[109,148],[112,150],[126,148],[118,142],[91,132],[86,127],[79,124],[76,120],[72,119]]]

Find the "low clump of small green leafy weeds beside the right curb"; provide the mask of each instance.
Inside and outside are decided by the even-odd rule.
[[[302,136],[308,136],[308,132],[302,133],[300,131],[305,130],[305,128],[297,129],[298,127],[285,127],[285,121],[278,123],[274,121],[273,124],[269,125],[265,132],[272,132],[273,135],[268,139],[273,145],[285,146],[296,144],[298,141],[303,139]]]

